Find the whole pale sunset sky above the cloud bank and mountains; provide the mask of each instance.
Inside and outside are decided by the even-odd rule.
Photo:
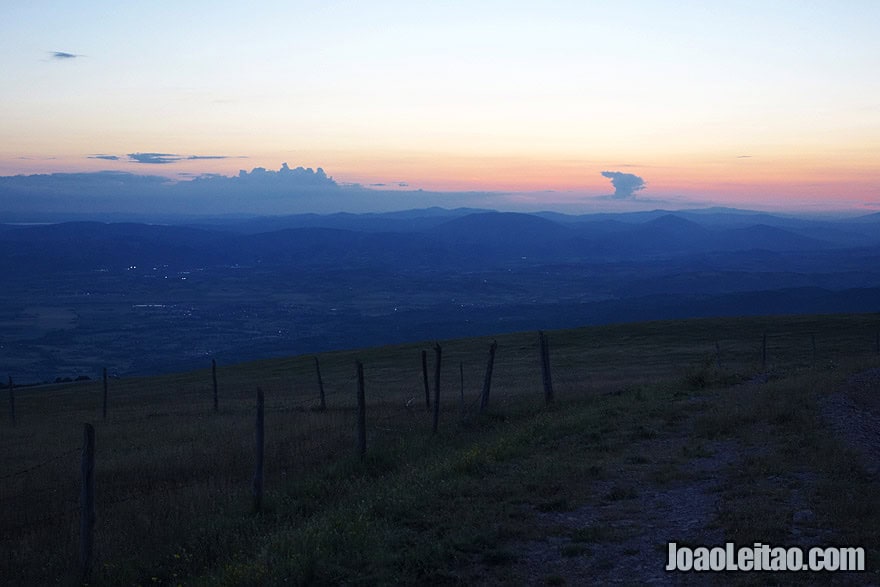
[[[880,209],[876,0],[7,4],[0,176]]]

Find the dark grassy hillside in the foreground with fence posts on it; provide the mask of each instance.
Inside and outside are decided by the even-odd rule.
[[[728,540],[864,546],[869,572],[846,582],[876,583],[877,471],[828,402],[880,366],[878,328],[841,315],[552,331],[552,406],[536,333],[499,336],[482,416],[492,339],[440,341],[436,435],[429,342],[321,355],[326,411],[311,356],[221,365],[217,413],[210,364],[111,379],[106,420],[100,382],[19,389],[16,425],[0,427],[0,583],[77,583],[83,422],[97,437],[92,584],[639,582],[663,580],[667,541]],[[853,401],[880,416],[880,377],[864,381]]]

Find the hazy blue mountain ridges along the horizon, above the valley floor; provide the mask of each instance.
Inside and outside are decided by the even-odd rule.
[[[422,213],[427,216],[420,216]],[[607,261],[758,249],[818,252],[862,243],[863,231],[870,227],[825,222],[822,234],[836,236],[832,242],[764,223],[737,228],[706,226],[695,217],[652,213],[642,216],[642,222],[623,222],[602,215],[598,220],[587,217],[563,224],[532,214],[429,209],[393,217],[300,215],[246,221],[234,227],[98,222],[5,226],[0,230],[0,264],[7,271],[256,262],[267,266],[493,266],[522,258]],[[270,230],[254,232],[259,228]]]

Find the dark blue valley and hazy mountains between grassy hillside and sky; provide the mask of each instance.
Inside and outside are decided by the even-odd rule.
[[[460,208],[0,225],[25,379],[516,329],[880,311],[880,215]]]

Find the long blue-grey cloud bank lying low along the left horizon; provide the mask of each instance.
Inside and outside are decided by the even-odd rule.
[[[180,155],[141,153],[152,161]],[[124,156],[95,154],[94,158]],[[197,157],[197,156],[194,156]],[[146,163],[146,165],[163,165]],[[389,184],[391,185],[391,184]],[[404,187],[405,182],[399,182]],[[62,220],[174,222],[182,217],[381,212],[509,204],[501,192],[369,189],[337,183],[320,167],[255,167],[238,175],[173,181],[124,171],[0,176],[0,223]]]

